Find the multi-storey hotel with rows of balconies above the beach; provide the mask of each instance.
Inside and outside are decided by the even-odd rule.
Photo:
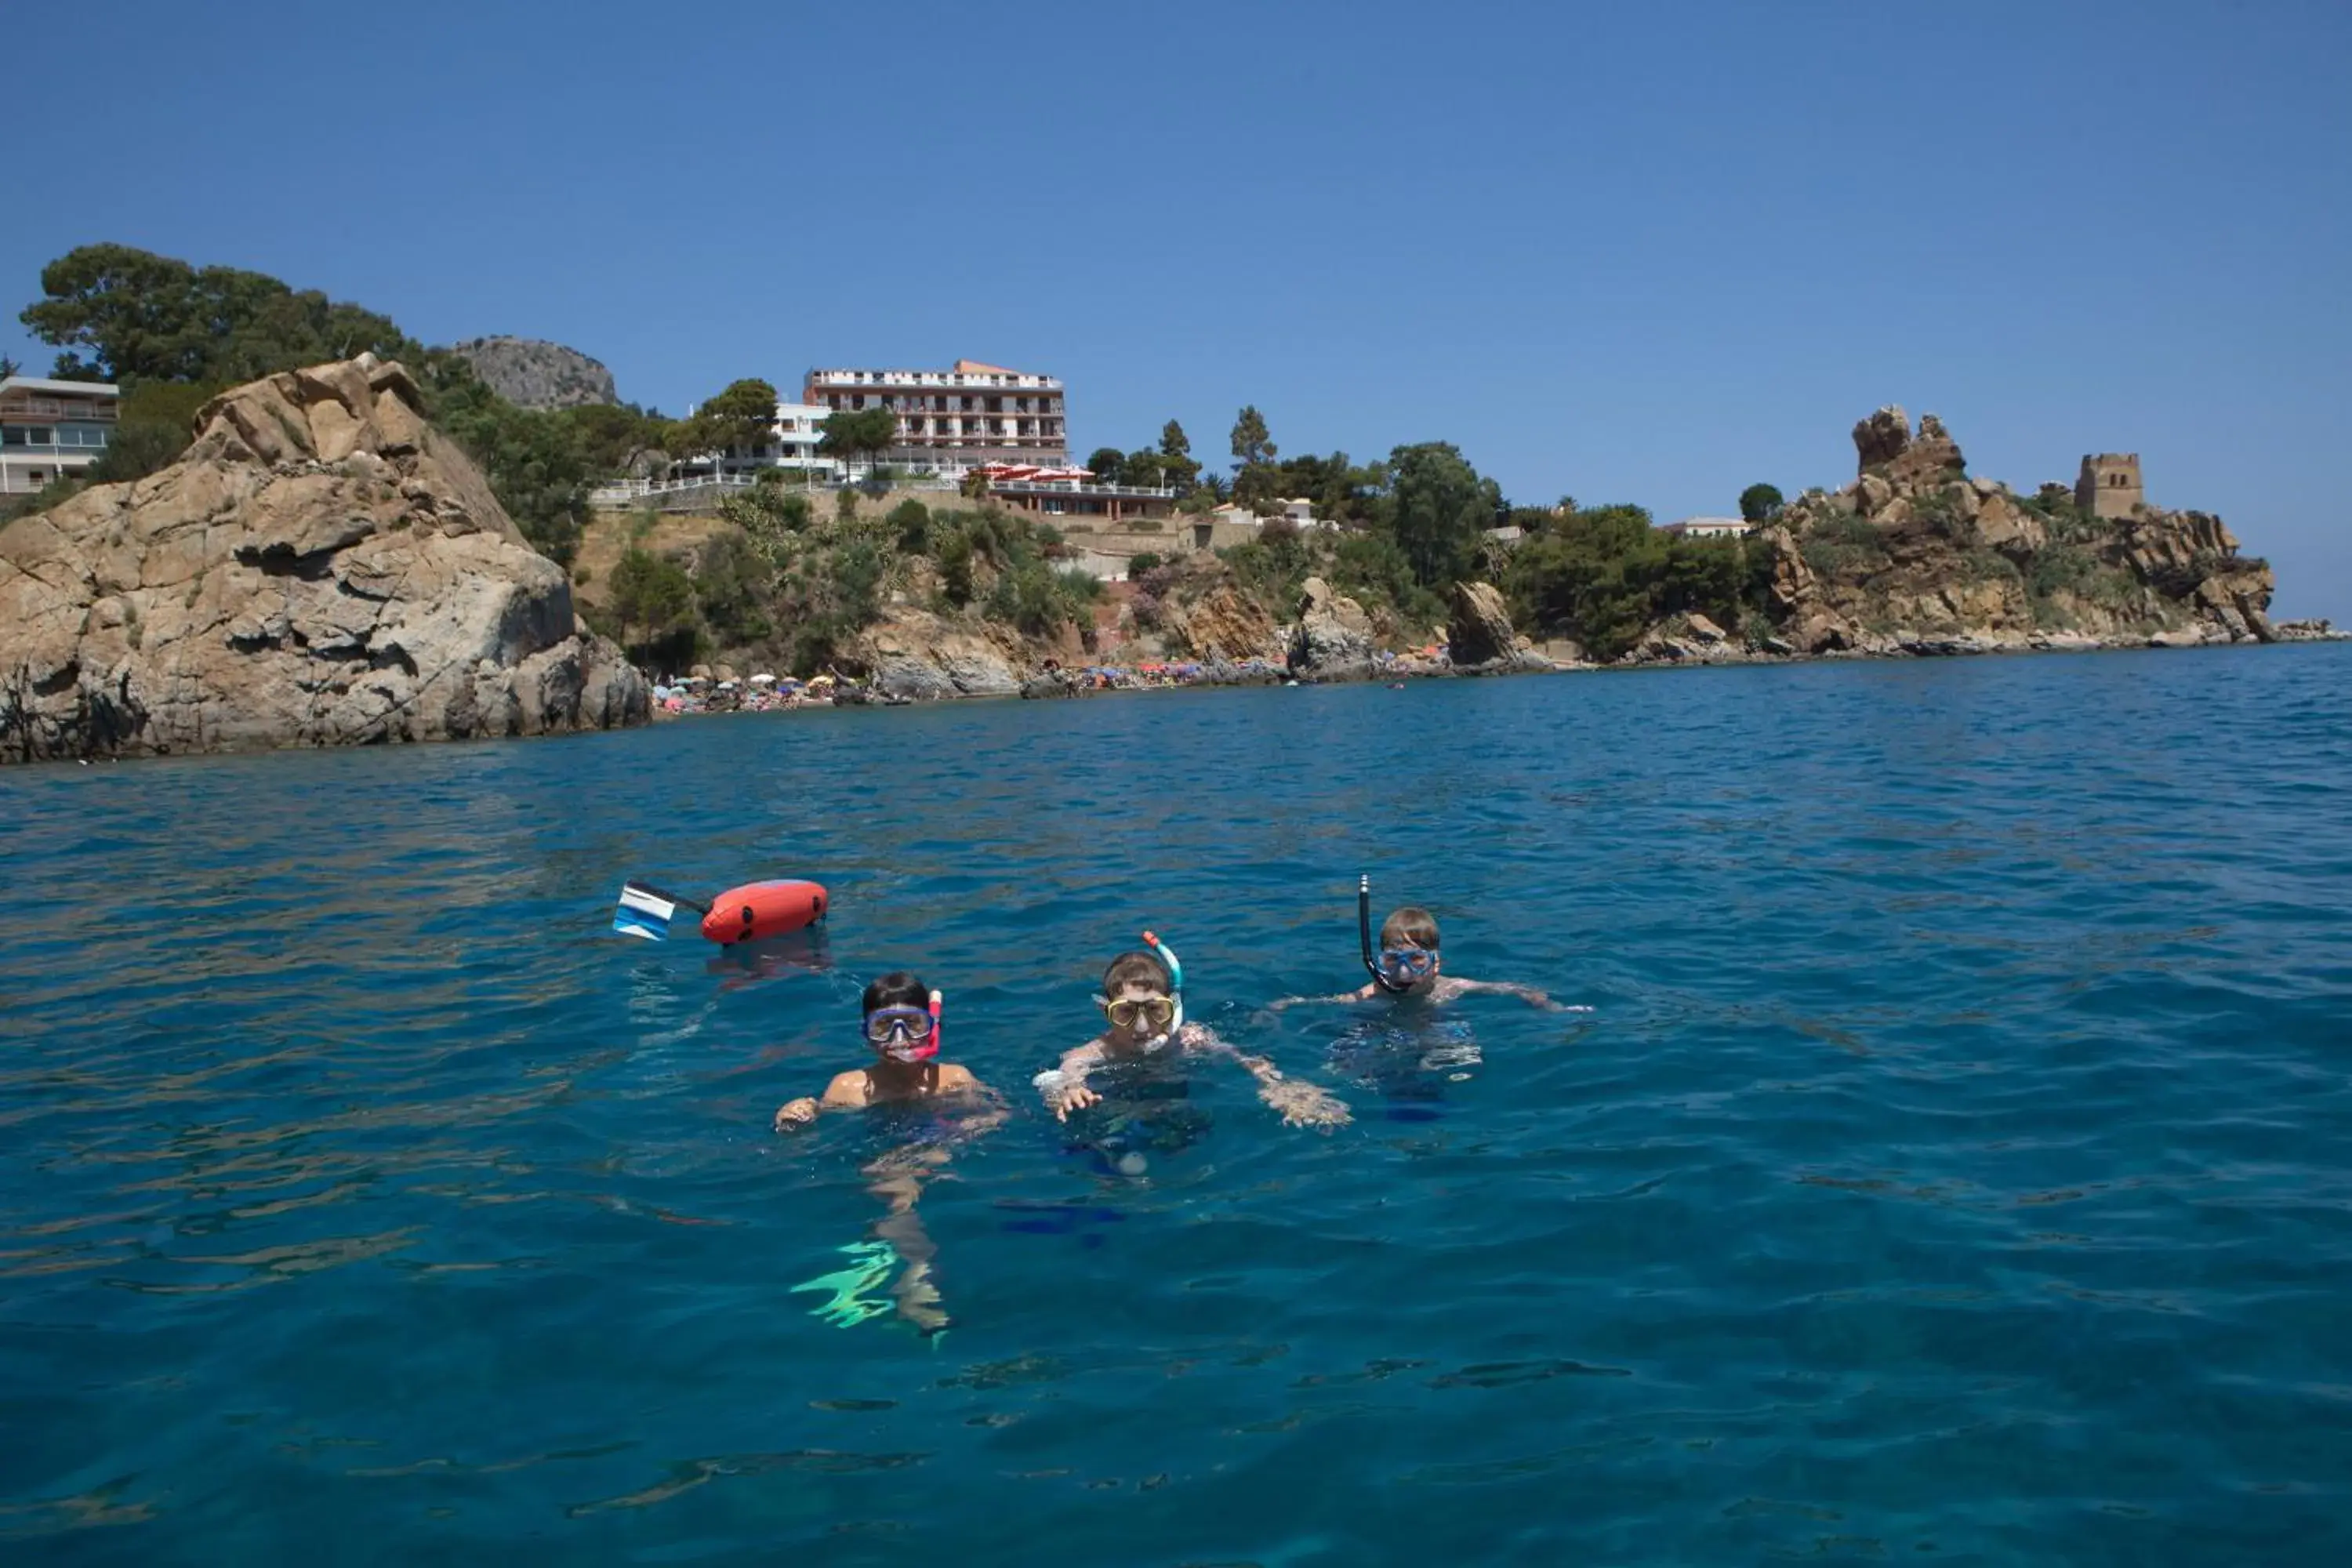
[[[821,414],[889,409],[898,468],[962,473],[983,463],[1065,468],[1070,437],[1061,381],[957,360],[955,369],[811,369],[800,393]]]

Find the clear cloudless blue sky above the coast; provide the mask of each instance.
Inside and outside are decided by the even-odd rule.
[[[1729,512],[1933,409],[2143,454],[2352,618],[2352,7],[129,2],[9,28],[12,310],[89,240],[680,411],[993,360],[1080,454],[1451,440]],[[42,113],[54,106],[56,115]],[[14,289],[9,294],[9,289]]]

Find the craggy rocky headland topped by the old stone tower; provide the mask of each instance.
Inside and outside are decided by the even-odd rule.
[[[1802,654],[1957,654],[2114,642],[2272,642],[2270,567],[2209,512],[2098,520],[2044,484],[1971,480],[1959,442],[1903,409],[1853,428],[1858,475],[1806,491],[1752,548]]]

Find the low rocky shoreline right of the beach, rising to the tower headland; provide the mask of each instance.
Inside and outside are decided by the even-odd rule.
[[[1849,484],[1806,491],[1745,541],[1762,602],[1740,625],[1670,614],[1613,658],[1590,658],[1573,637],[1529,637],[1496,581],[1456,583],[1446,621],[1414,637],[1319,576],[1277,607],[1289,614],[1270,611],[1214,557],[1160,567],[1084,646],[891,607],[856,656],[877,701],[938,701],[2345,637],[2326,621],[2272,623],[2270,567],[2241,555],[2211,512],[2098,517],[2056,484],[2025,496],[1971,477],[1933,414],[1912,425],[1903,409],[1879,409],[1856,423],[1853,444]],[[1131,677],[1169,661],[1192,672]]]

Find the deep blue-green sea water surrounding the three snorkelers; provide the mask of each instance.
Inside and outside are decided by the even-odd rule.
[[[2343,1563],[2347,778],[2345,646],[5,771],[0,1556]],[[1263,1016],[1359,870],[1595,1011]],[[1145,924],[1357,1121],[1042,1117]],[[767,1131],[894,966],[936,1340],[793,1293],[927,1126]]]

